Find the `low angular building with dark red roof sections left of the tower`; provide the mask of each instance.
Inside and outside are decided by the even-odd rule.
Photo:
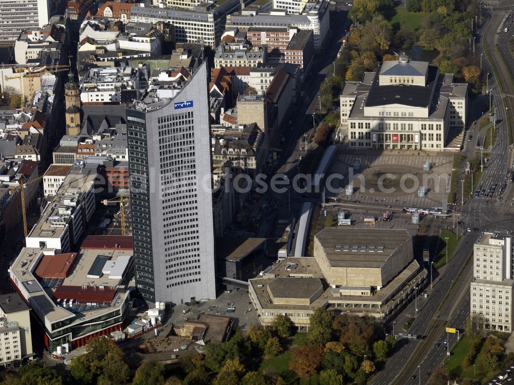
[[[32,307],[34,337],[62,355],[123,329],[133,261],[130,236],[88,236],[78,253],[22,248],[9,276]]]

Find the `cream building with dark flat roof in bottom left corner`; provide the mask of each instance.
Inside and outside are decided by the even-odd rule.
[[[30,307],[18,293],[0,295],[0,365],[32,360]]]

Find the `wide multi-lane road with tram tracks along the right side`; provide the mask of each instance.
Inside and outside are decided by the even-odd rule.
[[[511,107],[511,95],[514,94],[512,90],[514,87],[507,72],[509,69],[504,66],[499,56],[500,53],[494,48],[494,40],[498,38],[500,50],[508,54],[507,63],[510,68],[514,68],[514,58],[506,47],[508,36],[498,37],[496,34],[504,15],[505,13],[502,11],[494,11],[490,15],[485,14],[483,24],[477,31],[479,35],[476,36],[479,40],[479,54],[482,53],[480,37],[484,36],[483,44],[489,48],[492,64],[504,87],[504,93],[502,94],[497,80],[492,76],[492,66],[484,55],[484,71],[491,73],[489,88],[492,89],[494,95],[493,106],[496,107],[498,130],[491,160],[484,169],[481,179],[481,184],[486,189],[493,183],[501,184],[504,181],[507,169],[511,167],[512,163],[503,100],[506,101],[509,110],[513,108]],[[478,128],[474,129],[477,130]],[[466,155],[470,156],[471,154],[466,153]],[[469,199],[462,207],[461,220],[465,221],[468,227],[478,227],[481,230],[512,228],[514,219],[512,219],[507,209],[509,206],[510,202],[508,201],[488,200],[487,198]],[[445,326],[462,328],[469,314],[469,282],[472,276],[472,263],[466,264],[465,262],[472,253],[472,246],[477,237],[478,234],[465,233],[465,238],[457,246],[449,265],[441,272],[433,290],[429,290],[430,294],[426,304],[409,329],[409,333],[423,335],[425,338],[418,341],[401,340],[400,348],[371,383],[384,385],[424,383],[433,369],[443,362],[447,354],[444,350],[446,345],[444,342],[448,338],[450,347],[456,342],[456,336],[447,335],[444,332]],[[438,310],[444,298],[447,298],[447,300],[443,307]],[[402,317],[399,316],[397,319],[400,320]],[[401,327],[400,323],[398,323],[398,326]],[[397,328],[397,332],[398,330],[399,328]],[[437,342],[440,343],[438,348],[435,347]],[[411,378],[412,376],[414,378]]]

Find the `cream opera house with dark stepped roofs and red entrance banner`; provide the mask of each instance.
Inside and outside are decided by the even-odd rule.
[[[427,62],[400,56],[366,72],[362,82],[346,82],[340,107],[348,144],[442,150],[450,128],[462,129],[467,119],[467,84],[452,80]]]

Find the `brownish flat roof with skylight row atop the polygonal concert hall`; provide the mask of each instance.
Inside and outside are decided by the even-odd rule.
[[[406,229],[327,227],[315,236],[332,267],[381,267],[412,237]]]

